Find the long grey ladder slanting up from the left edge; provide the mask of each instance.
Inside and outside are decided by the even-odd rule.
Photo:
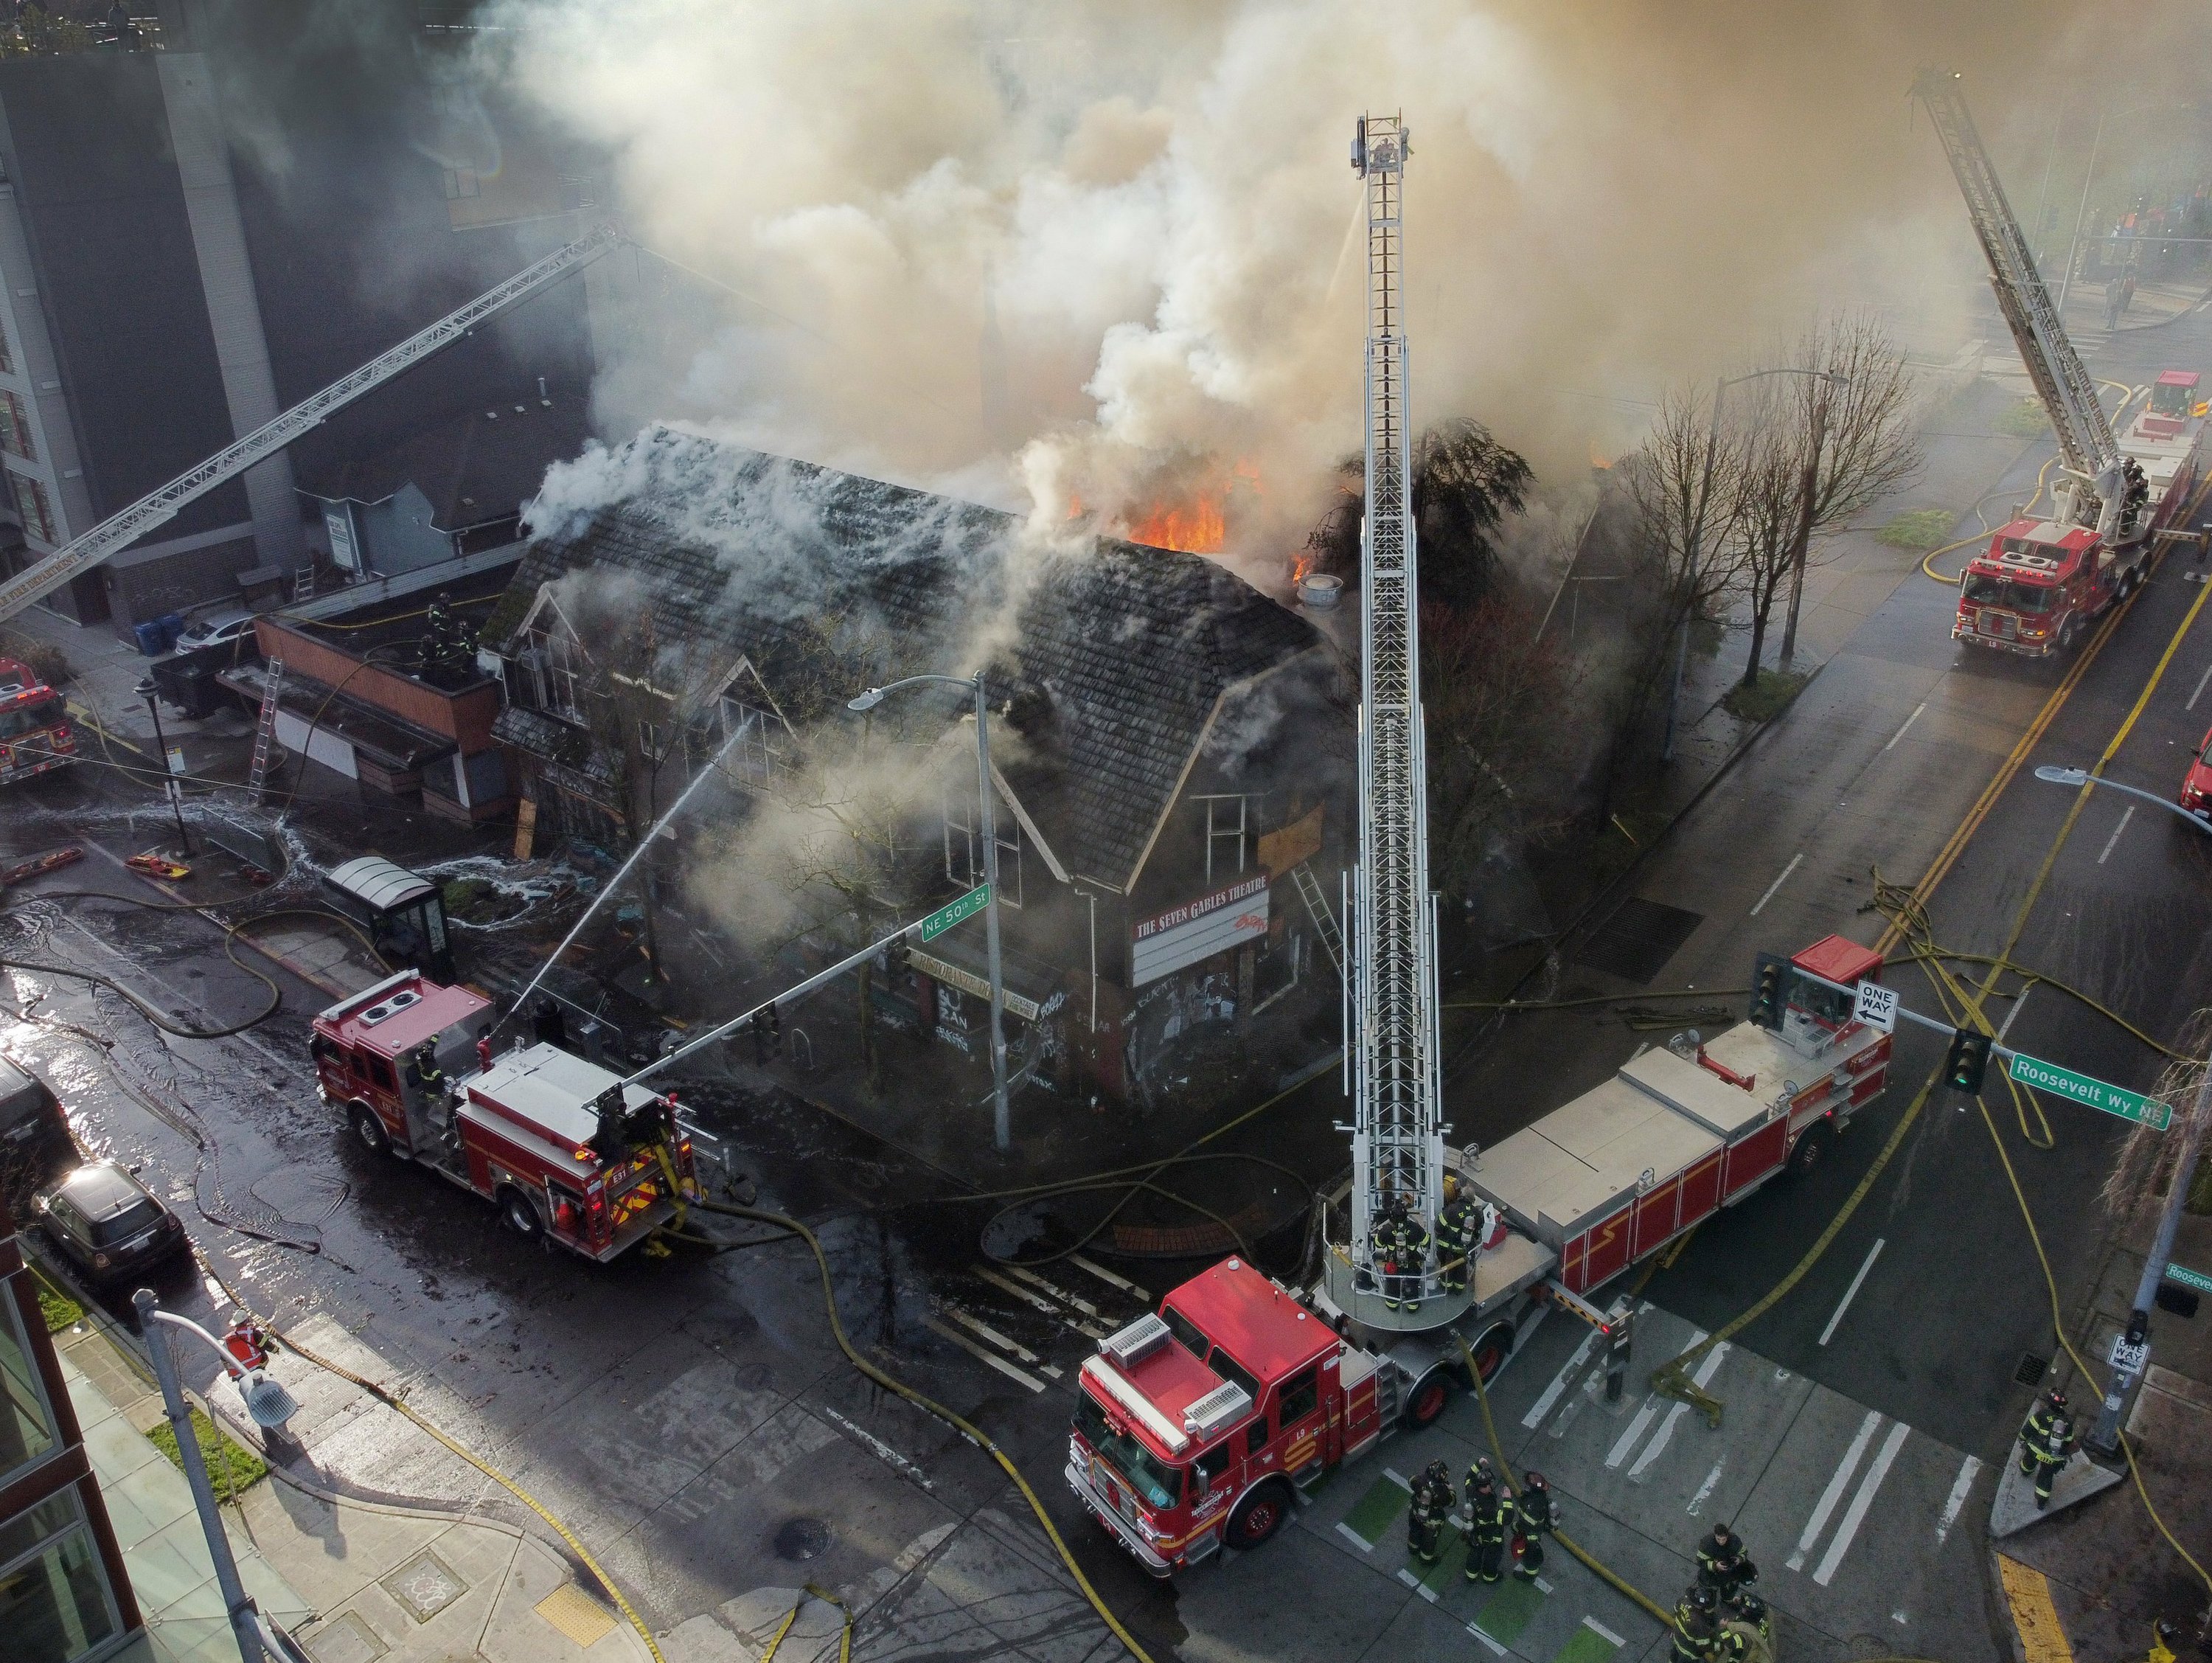
[[[27,566],[15,577],[0,582],[0,624],[15,617],[15,613],[33,602],[51,595],[71,577],[88,573],[111,555],[122,553],[155,526],[168,524],[186,509],[186,504],[204,498],[208,491],[223,484],[223,480],[237,478],[246,469],[281,451],[292,440],[305,438],[316,429],[316,425],[345,409],[363,394],[383,387],[387,380],[422,363],[434,352],[453,345],[476,325],[484,323],[495,312],[504,312],[515,301],[529,299],[553,279],[588,265],[619,241],[622,232],[615,230],[613,223],[597,226],[584,237],[577,237],[573,243],[553,250],[535,265],[515,272],[504,283],[478,294],[467,305],[447,312],[420,334],[407,336],[389,352],[369,358],[369,363],[361,365],[352,374],[341,376],[319,394],[292,405],[292,409],[257,427],[252,433],[234,444],[228,444],[197,467],[186,469],[168,484],[148,491],[128,509],[108,515],[82,537],[71,537],[38,564]]]

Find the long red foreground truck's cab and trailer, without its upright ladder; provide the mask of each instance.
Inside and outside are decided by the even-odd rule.
[[[1750,1022],[1641,1050],[1495,1148],[1449,1157],[1486,1207],[1473,1296],[1451,1327],[1378,1329],[1332,1298],[1329,1276],[1292,1289],[1241,1258],[1183,1283],[1084,1360],[1068,1486],[1137,1563],[1170,1577],[1223,1546],[1256,1548],[1296,1493],[1433,1422],[1469,1356],[1493,1378],[1548,1309],[1610,1333],[1621,1316],[1593,1305],[1608,1280],[1814,1168],[1882,1092],[1889,1035],[1827,986],[1880,969],[1840,935],[1761,958]]]

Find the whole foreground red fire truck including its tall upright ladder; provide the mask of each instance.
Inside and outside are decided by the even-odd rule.
[[[1230,1258],[1082,1367],[1068,1486],[1155,1577],[1265,1541],[1298,1491],[1391,1431],[1436,1420],[1469,1360],[1493,1376],[1548,1309],[1610,1327],[1617,1318],[1590,1303],[1604,1283],[1776,1172],[1814,1165],[1889,1068],[1889,1037],[1823,986],[1876,980],[1880,958],[1829,935],[1794,960],[1761,960],[1752,1022],[1712,1044],[1686,1033],[1646,1050],[1493,1150],[1447,1150],[1405,442],[1405,157],[1400,119],[1360,122],[1352,166],[1367,186],[1369,332],[1360,867],[1345,986],[1352,1179],[1329,1203],[1318,1283],[1292,1289]],[[1436,1219],[1447,1174],[1484,1205],[1464,1278],[1433,1252],[1398,1263],[1378,1230],[1400,1201]]]

